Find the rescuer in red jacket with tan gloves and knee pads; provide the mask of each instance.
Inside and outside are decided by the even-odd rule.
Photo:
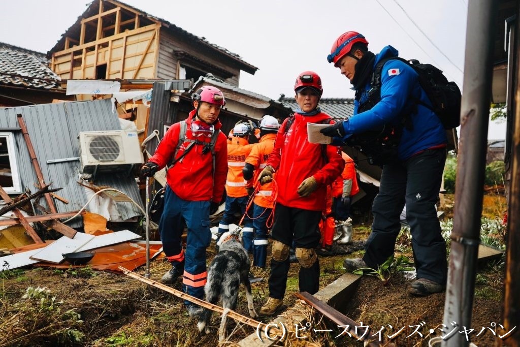
[[[282,305],[290,266],[289,246],[293,240],[301,265],[300,291],[310,294],[318,291],[320,266],[315,251],[320,241],[318,223],[325,207],[327,185],[345,166],[338,147],[311,144],[307,140],[307,123],[334,123],[318,107],[323,93],[318,74],[302,72],[296,78],[294,91],[300,107],[282,123],[267,166],[258,178],[261,184],[269,183],[276,172],[278,186],[269,298],[260,310],[262,314],[273,314]]]

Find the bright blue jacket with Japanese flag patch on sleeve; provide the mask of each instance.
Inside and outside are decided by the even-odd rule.
[[[384,47],[375,56],[377,63],[386,57],[397,57],[392,46]],[[363,88],[360,102],[368,98],[370,82]],[[403,129],[398,147],[398,157],[406,160],[415,153],[432,147],[446,145],[446,132],[437,115],[430,109],[414,101],[420,99],[431,105],[426,93],[419,85],[418,74],[412,67],[399,60],[388,60],[381,69],[381,101],[365,112],[358,113],[359,101],[354,101],[354,115],[343,122],[343,140],[352,134],[359,134],[383,124],[398,125],[402,117],[411,112],[412,130]]]

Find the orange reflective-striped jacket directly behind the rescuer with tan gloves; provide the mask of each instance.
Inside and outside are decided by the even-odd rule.
[[[248,158],[245,159],[245,162],[255,167],[255,174],[253,175],[253,179],[246,183],[247,187],[253,187],[258,179],[258,175],[264,170],[272,148],[275,146],[275,139],[276,134],[266,134],[260,138],[259,143],[253,145],[253,149],[251,153],[249,153]],[[272,209],[272,205],[274,204],[274,201],[272,201],[274,198],[273,188],[274,183],[272,182],[260,186],[256,193],[254,203],[258,206]]]

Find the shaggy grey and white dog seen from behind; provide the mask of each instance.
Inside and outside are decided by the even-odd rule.
[[[251,284],[248,279],[251,262],[249,255],[242,246],[240,236],[237,231],[222,234],[217,242],[218,253],[213,258],[210,268],[207,271],[207,282],[204,287],[206,301],[216,304],[218,299],[222,299],[224,313],[220,321],[218,330],[218,340],[224,341],[226,317],[230,310],[235,310],[238,301],[238,288],[242,283],[245,287],[245,295],[248,299],[249,315],[252,318],[257,316],[253,307],[253,296],[251,295]],[[207,326],[210,323],[212,311],[204,309],[199,317],[197,327],[199,331],[210,332]]]

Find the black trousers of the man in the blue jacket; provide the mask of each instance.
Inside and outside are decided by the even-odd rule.
[[[372,205],[372,233],[363,260],[378,268],[394,253],[399,215],[406,203],[417,278],[446,283],[446,242],[441,236],[435,203],[446,161],[446,149],[429,149],[410,159],[383,166],[379,194]]]

